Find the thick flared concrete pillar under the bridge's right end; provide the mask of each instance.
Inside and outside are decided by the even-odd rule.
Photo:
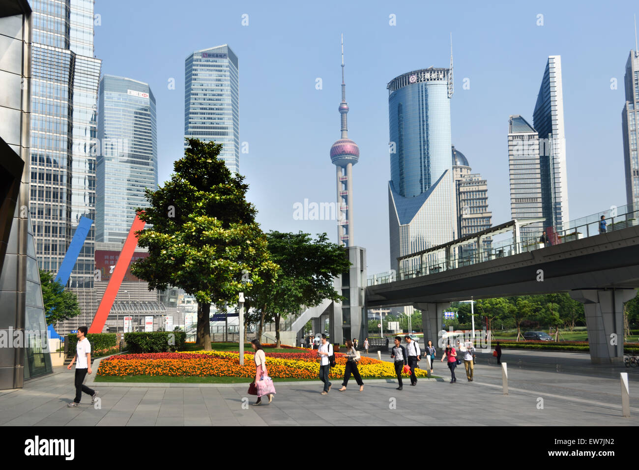
[[[624,303],[635,295],[635,289],[570,292],[574,300],[583,304],[593,364],[621,363],[624,360]]]

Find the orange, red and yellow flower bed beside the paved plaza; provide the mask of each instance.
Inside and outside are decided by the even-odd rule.
[[[330,377],[344,376],[346,357],[335,354],[337,365],[330,370]],[[319,375],[319,358],[316,353],[268,353],[268,375],[275,378],[316,379]],[[362,357],[358,367],[362,377],[395,377],[393,364]],[[415,370],[417,377],[426,377],[426,371]],[[255,377],[252,353],[244,354],[240,366],[239,353],[227,351],[208,352],[160,352],[151,354],[124,354],[112,356],[100,362],[97,375],[191,375],[198,377]],[[404,374],[406,375],[406,374]]]

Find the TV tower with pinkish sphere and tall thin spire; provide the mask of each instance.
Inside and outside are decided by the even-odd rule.
[[[337,167],[337,236],[340,245],[354,246],[353,239],[353,165],[359,160],[359,147],[348,138],[348,104],[344,83],[344,35],[342,35],[342,102],[339,104],[342,137],[330,148],[330,161]]]

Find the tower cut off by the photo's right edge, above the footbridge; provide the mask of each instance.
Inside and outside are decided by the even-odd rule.
[[[624,136],[624,166],[626,168],[626,203],[631,210],[639,206],[639,160],[637,141],[639,140],[639,52],[630,51],[624,75],[626,104],[621,113],[621,129]]]

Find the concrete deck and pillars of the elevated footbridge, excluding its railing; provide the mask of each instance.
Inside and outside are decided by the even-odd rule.
[[[451,301],[569,292],[585,306],[593,363],[623,360],[623,306],[639,287],[639,227],[366,289],[367,308],[414,305],[436,338]],[[619,340],[617,340],[617,335]],[[433,341],[434,343],[435,341]]]

